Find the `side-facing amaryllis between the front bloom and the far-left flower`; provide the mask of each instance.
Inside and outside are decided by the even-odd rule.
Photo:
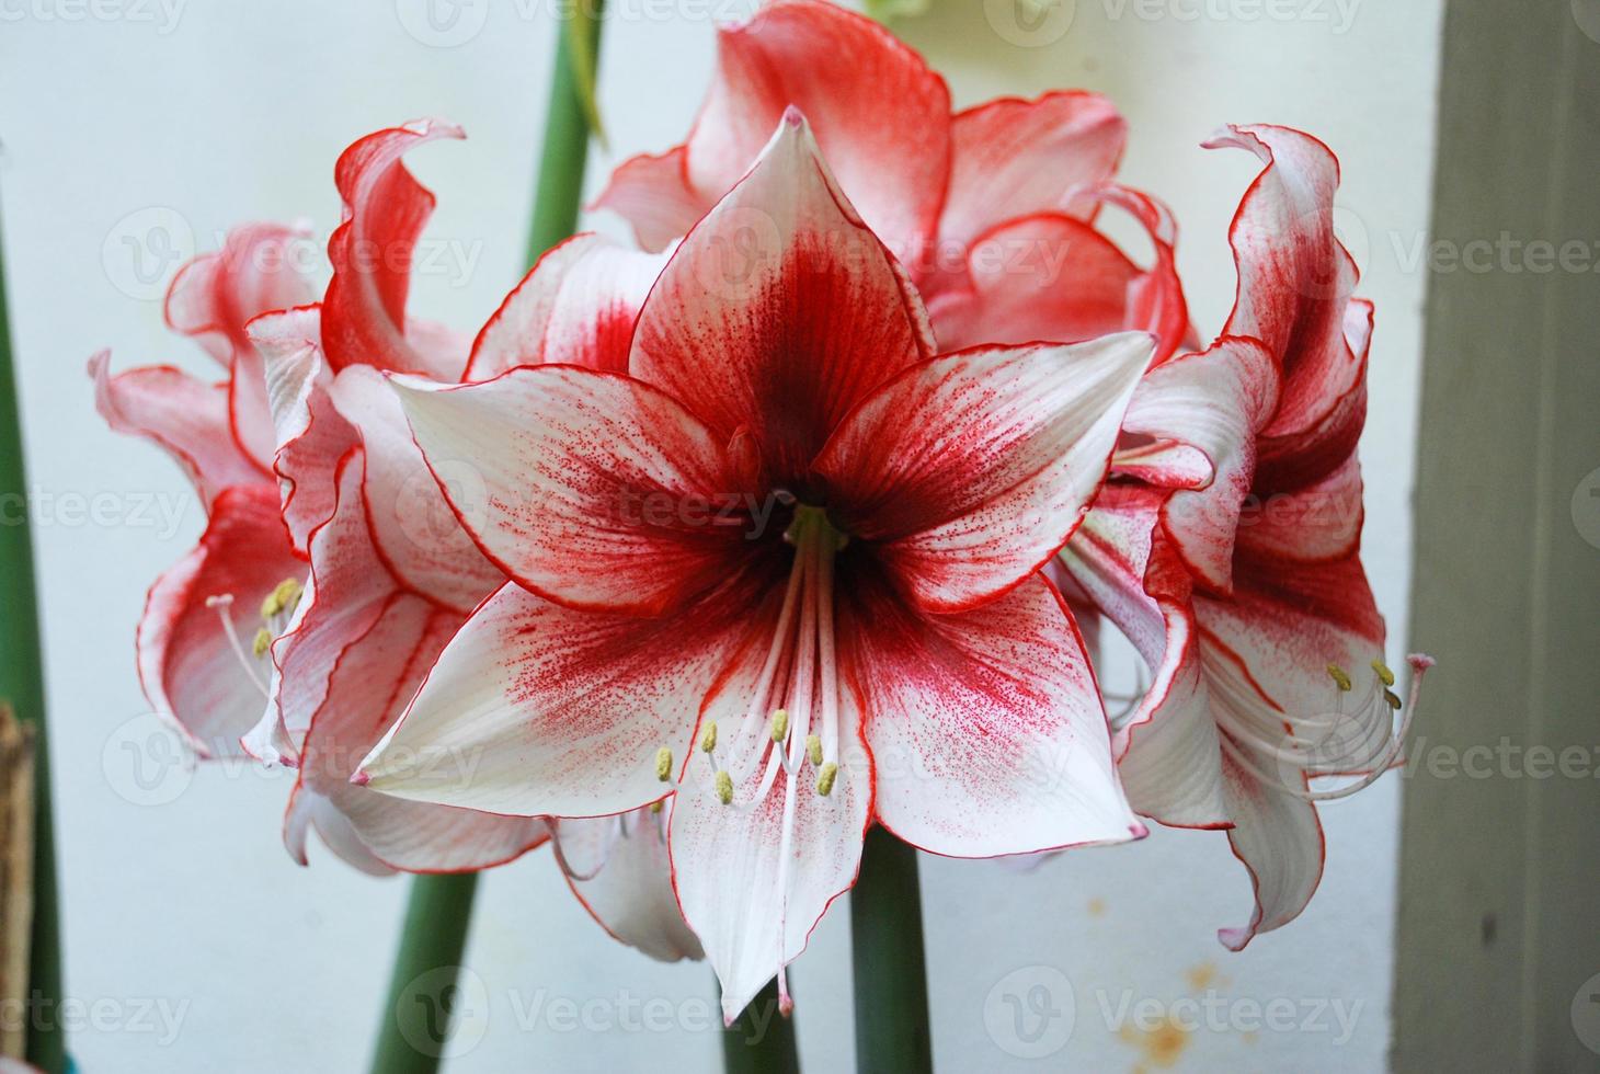
[[[328,245],[326,296],[250,325],[277,423],[283,517],[310,578],[272,645],[272,703],[246,744],[299,767],[285,840],[302,863],[312,828],[370,872],[482,869],[554,839],[574,893],[608,932],[658,959],[699,957],[672,896],[659,815],[555,826],[350,783],[443,643],[504,583],[461,531],[382,383],[397,370],[454,383],[466,363],[464,341],[406,317],[434,198],[402,163],[414,146],[459,136],[424,120],[350,146],[336,168],[346,221]],[[477,760],[413,763],[470,773]]]

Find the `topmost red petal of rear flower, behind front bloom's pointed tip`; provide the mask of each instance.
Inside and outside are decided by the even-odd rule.
[[[870,101],[870,107],[862,107]],[[717,77],[688,139],[706,205],[797,107],[862,219],[898,256],[934,235],[950,171],[950,91],[886,29],[832,3],[773,3],[717,32]]]

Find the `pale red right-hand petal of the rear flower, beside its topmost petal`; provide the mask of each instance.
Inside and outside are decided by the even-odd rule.
[[[950,190],[939,240],[966,246],[1019,216],[1094,214],[1094,187],[1112,178],[1128,123],[1098,93],[1046,93],[1035,101],[998,98],[950,123]],[[992,343],[992,341],[990,341]]]

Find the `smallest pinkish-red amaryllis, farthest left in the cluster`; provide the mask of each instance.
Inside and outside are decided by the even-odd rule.
[[[267,693],[266,645],[286,627],[306,576],[278,519],[266,383],[245,338],[251,317],[310,296],[291,253],[301,238],[278,224],[238,227],[173,279],[166,323],[198,341],[226,379],[170,365],[114,376],[109,352],[90,359],[107,424],[165,448],[206,509],[205,535],[150,587],[138,632],[150,707],[202,757],[240,755]]]

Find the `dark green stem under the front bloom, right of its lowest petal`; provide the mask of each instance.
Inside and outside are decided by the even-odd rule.
[[[933,1071],[928,973],[922,952],[917,848],[882,828],[867,832],[850,893],[856,972],[856,1069],[861,1074]]]

